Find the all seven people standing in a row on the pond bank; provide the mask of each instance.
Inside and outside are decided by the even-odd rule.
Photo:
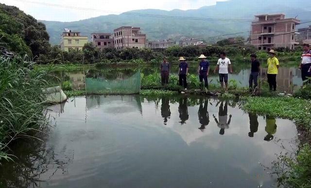
[[[301,56],[301,63],[299,69],[301,69],[301,77],[302,81],[311,83],[308,80],[308,77],[311,77],[311,50],[308,44],[303,45],[304,52]],[[278,68],[280,67],[279,61],[276,58],[276,52],[274,50],[270,50],[268,52],[269,58],[267,59],[267,80],[269,84],[270,91],[276,91],[276,75],[278,74]],[[257,60],[257,56],[255,53],[250,55],[251,58],[251,72],[249,75],[249,89],[253,90],[258,86],[258,77],[260,74],[260,63]],[[208,74],[210,70],[210,63],[207,60],[207,57],[202,54],[198,57],[200,59],[200,63],[198,66],[198,75],[200,80],[200,88],[208,89]],[[189,71],[189,65],[186,62],[184,57],[180,57],[178,60],[179,68],[179,85],[183,86],[185,90],[187,90],[187,75]],[[170,64],[167,62],[166,58],[163,58],[163,62],[161,63],[161,82],[162,85],[167,85],[169,83],[169,75],[170,75]],[[228,90],[228,73],[232,73],[232,66],[230,59],[226,57],[225,52],[220,53],[220,59],[217,62],[216,68],[214,69],[214,73],[218,70],[219,74],[219,82],[221,83],[221,87],[225,88],[225,91]],[[203,86],[204,81],[204,86]]]

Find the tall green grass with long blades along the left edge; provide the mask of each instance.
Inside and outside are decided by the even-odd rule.
[[[13,140],[35,138],[47,122],[44,114],[47,71],[32,71],[34,63],[21,57],[0,57],[0,160]]]

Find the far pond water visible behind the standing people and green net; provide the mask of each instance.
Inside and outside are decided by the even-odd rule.
[[[144,75],[148,75],[158,72],[159,69],[157,66],[145,66],[143,68],[98,68],[98,69],[89,69],[89,70],[74,70],[74,71],[56,71],[56,75],[61,78],[62,81],[70,80],[73,84],[74,89],[84,89],[84,77],[86,74],[90,74],[94,77],[100,76],[106,79],[115,80],[115,79],[125,79],[133,75],[136,71],[140,70]],[[250,67],[247,64],[242,64],[239,66],[233,67],[233,74],[229,74],[229,81],[236,80],[238,86],[248,87],[248,79],[250,74]],[[266,68],[261,69],[261,78],[266,76]],[[190,74],[196,74],[197,66],[191,65]],[[178,65],[172,65],[172,74],[178,74]],[[218,84],[218,74],[213,74],[213,71],[210,71],[208,80],[211,84]],[[302,85],[301,80],[301,71],[296,67],[281,67],[279,68],[279,73],[276,77],[277,87],[279,91],[293,92],[294,89],[300,88]]]

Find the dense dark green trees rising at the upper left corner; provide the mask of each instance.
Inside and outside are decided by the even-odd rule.
[[[40,57],[50,51],[49,39],[43,23],[17,7],[0,3],[0,44],[9,51]]]

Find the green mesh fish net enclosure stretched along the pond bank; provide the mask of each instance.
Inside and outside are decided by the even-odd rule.
[[[86,75],[86,94],[136,94],[140,92],[140,71],[126,79],[107,80]]]

